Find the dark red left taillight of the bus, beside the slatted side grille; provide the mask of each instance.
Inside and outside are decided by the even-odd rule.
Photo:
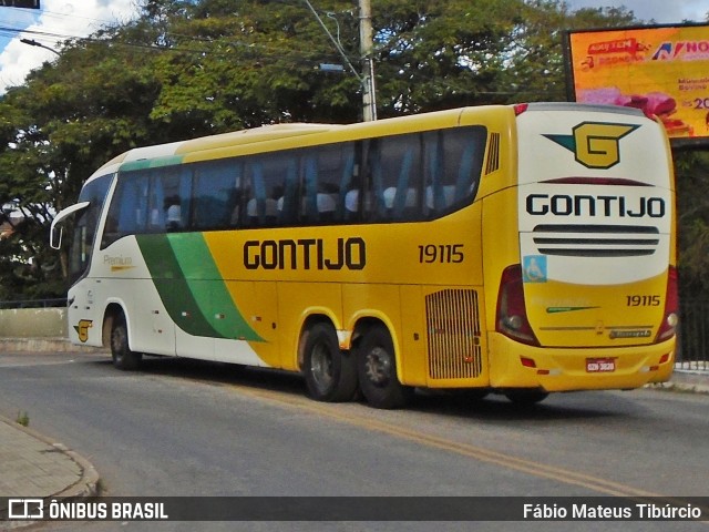
[[[522,267],[518,264],[508,266],[502,273],[497,294],[496,330],[522,344],[540,345],[527,319]]]

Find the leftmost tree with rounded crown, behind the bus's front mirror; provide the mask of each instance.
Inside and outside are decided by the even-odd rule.
[[[116,53],[106,53],[112,47]],[[22,218],[0,242],[0,254],[12,263],[0,274],[3,297],[65,291],[66,252],[58,260],[47,245],[53,213],[74,203],[83,181],[106,160],[160,139],[147,120],[156,93],[136,50],[93,39],[66,43],[55,64],[6,94],[0,204],[16,205]]]

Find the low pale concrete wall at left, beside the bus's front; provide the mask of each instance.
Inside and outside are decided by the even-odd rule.
[[[65,308],[0,310],[0,338],[66,338]]]

